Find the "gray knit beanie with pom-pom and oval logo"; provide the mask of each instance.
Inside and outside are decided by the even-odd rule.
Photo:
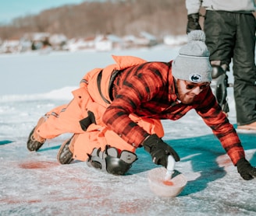
[[[201,30],[193,30],[188,34],[188,43],[180,48],[179,55],[172,62],[174,78],[189,82],[211,82],[210,54],[204,41],[205,35]]]

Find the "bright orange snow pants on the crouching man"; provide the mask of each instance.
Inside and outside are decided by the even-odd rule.
[[[106,68],[108,70],[104,69],[103,75],[104,72],[111,74],[114,67],[115,64],[112,64]],[[73,159],[76,160],[86,161],[87,154],[91,154],[94,148],[104,150],[106,145],[115,147],[119,151],[135,152],[136,150],[132,145],[123,141],[114,131],[108,130],[108,127],[101,120],[109,105],[101,98],[98,91],[97,77],[101,71],[102,69],[96,68],[88,72],[82,79],[82,81],[86,80],[86,83],[81,82],[80,89],[73,91],[71,102],[55,107],[46,113],[46,120],[37,128],[37,133],[42,138],[47,139],[55,138],[64,133],[75,134],[73,137],[75,140],[72,141],[73,146],[69,148],[73,151]],[[88,111],[94,113],[96,124],[91,124],[84,131],[80,126],[80,120],[88,116]],[[137,117],[134,114],[130,114],[130,118],[149,134],[158,134],[158,137],[163,137],[164,132],[160,120]]]

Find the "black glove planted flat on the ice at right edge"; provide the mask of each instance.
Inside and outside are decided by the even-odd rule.
[[[256,168],[252,167],[247,159],[240,159],[237,163],[237,171],[244,180],[251,180],[256,177]]]

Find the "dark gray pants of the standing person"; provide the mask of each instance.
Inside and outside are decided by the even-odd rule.
[[[237,125],[256,121],[255,26],[251,13],[207,11],[204,19],[210,60],[229,66],[233,58]]]

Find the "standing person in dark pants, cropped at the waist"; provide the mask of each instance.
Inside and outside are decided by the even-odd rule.
[[[210,51],[212,78],[223,79],[233,58],[234,98],[236,102],[237,129],[256,133],[256,67],[255,3],[253,0],[186,0],[187,33],[201,30],[199,11],[206,9],[204,17],[205,43]],[[222,82],[222,83],[223,83]],[[226,86],[224,91],[226,91]],[[221,93],[221,92],[220,92]],[[215,92],[222,110],[228,112],[226,96]]]

